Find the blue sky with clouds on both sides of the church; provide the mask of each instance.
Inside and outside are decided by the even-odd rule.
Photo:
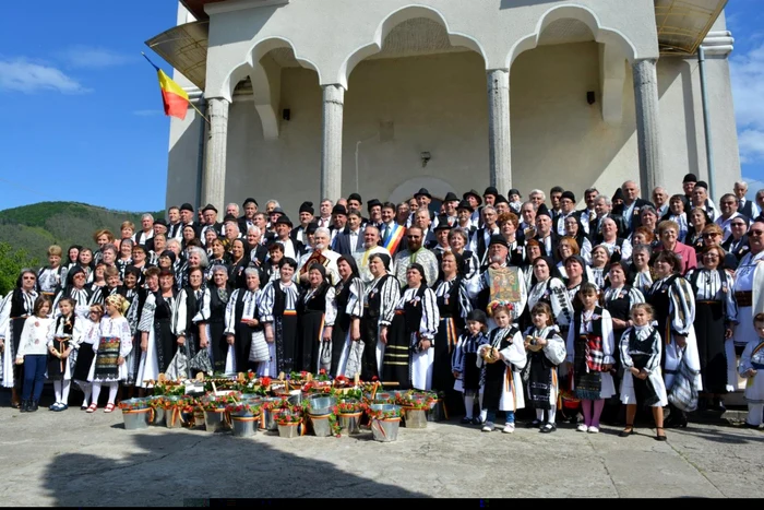
[[[762,0],[727,8],[742,174],[756,181],[752,191],[764,187],[762,8]],[[4,7],[0,210],[48,200],[164,207],[169,119],[141,51],[171,75],[144,41],[174,26],[176,15],[174,0]]]

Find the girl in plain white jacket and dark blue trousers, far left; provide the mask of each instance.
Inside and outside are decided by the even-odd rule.
[[[16,352],[16,365],[24,365],[24,387],[22,390],[21,411],[37,411],[37,403],[43,394],[45,369],[48,361],[47,336],[52,319],[50,299],[40,296],[35,299],[32,316],[24,321],[24,327]]]

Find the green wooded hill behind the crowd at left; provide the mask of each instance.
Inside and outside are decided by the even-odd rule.
[[[165,215],[164,211],[151,213],[154,217]],[[95,249],[95,230],[107,228],[119,237],[119,226],[126,220],[141,228],[141,214],[79,202],[40,202],[0,211],[0,244],[7,244],[4,250],[0,249],[0,272],[5,273],[0,276],[0,295],[9,290],[8,273],[14,270],[5,268],[9,259],[13,259],[13,266],[39,266],[47,263],[50,245],[59,245],[64,254],[71,245]]]

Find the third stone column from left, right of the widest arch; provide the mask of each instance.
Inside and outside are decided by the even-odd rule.
[[[509,69],[488,71],[488,122],[490,181],[505,193],[512,188]]]

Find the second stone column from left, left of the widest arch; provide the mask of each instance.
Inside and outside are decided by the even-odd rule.
[[[336,202],[343,180],[343,105],[342,85],[323,85],[323,145],[321,147],[321,200]]]

